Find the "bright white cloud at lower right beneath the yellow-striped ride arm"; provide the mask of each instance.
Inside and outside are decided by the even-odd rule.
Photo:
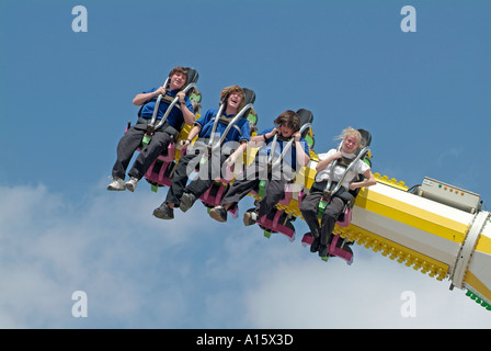
[[[354,248],[358,253],[364,249]],[[300,259],[265,271],[248,294],[249,319],[258,328],[487,328],[491,315],[448,281],[390,261],[357,254],[349,267]],[[401,294],[414,293],[415,317],[404,317]]]

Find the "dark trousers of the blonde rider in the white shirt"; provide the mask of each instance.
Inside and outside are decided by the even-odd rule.
[[[319,210],[319,202],[322,197],[322,192],[318,190],[311,190],[310,194],[305,196],[300,204],[300,212],[305,222],[310,228],[310,233],[315,238],[320,236],[320,244],[327,245],[329,237],[334,230],[335,222],[344,208],[344,201],[338,196],[332,196],[331,202],[322,214],[321,223],[319,226],[319,219],[317,217]]]

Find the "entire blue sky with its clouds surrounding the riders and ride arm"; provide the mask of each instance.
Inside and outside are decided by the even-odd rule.
[[[71,30],[78,4],[85,33]],[[400,29],[404,5],[415,33]],[[202,204],[156,219],[167,190],[105,186],[133,98],[182,65],[199,72],[202,112],[226,86],[251,88],[260,129],[309,109],[317,152],[363,127],[374,172],[489,200],[490,11],[477,0],[0,2],[0,327],[489,327],[448,281],[363,247],[351,267],[324,263],[299,239],[216,223]],[[87,318],[71,315],[75,291]],[[400,314],[404,291],[415,318]],[[309,305],[332,294],[346,304]]]

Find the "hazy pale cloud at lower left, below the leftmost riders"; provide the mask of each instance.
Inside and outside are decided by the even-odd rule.
[[[146,304],[140,284],[169,269],[158,267],[160,254],[195,224],[180,224],[179,233],[151,216],[152,194],[129,195],[101,193],[75,205],[43,185],[0,188],[0,327],[137,326],[124,320]],[[77,290],[89,297],[83,321],[71,316]]]

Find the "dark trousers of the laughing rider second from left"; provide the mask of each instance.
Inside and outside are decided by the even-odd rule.
[[[181,197],[185,192],[193,193],[196,197],[199,197],[212,186],[215,178],[220,176],[221,167],[229,155],[220,151],[208,158],[204,165],[199,165],[202,155],[202,149],[195,149],[180,158],[164,202],[173,203],[179,207]],[[190,174],[194,170],[198,170],[199,173],[186,186]]]

